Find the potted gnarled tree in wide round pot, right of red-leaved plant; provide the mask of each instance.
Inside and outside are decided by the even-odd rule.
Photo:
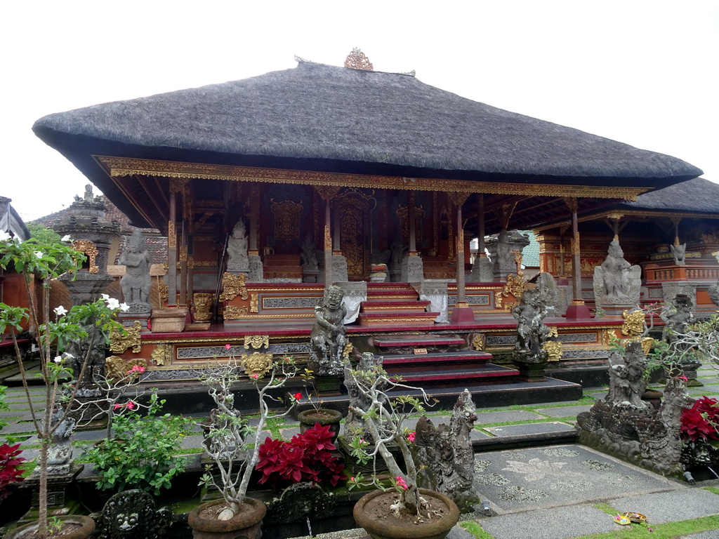
[[[390,379],[381,364],[362,362],[362,368],[347,368],[346,379],[357,388],[359,398],[350,403],[349,412],[362,418],[364,432],[352,438],[352,456],[368,462],[380,456],[385,462],[390,487],[383,484],[375,473],[370,482],[356,475],[349,480],[349,488],[374,484],[380,490],[365,494],[354,506],[354,520],[365,528],[372,538],[433,538],[441,539],[459,520],[459,508],[451,499],[417,487],[417,469],[408,446],[403,421],[411,413],[424,411],[429,402],[424,390]],[[405,390],[419,392],[422,399],[400,395],[390,400],[388,392]],[[390,446],[398,448],[403,456],[405,470],[401,469]],[[376,468],[375,468],[376,470]]]

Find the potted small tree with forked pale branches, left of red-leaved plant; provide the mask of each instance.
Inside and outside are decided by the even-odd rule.
[[[232,346],[227,344],[226,349],[230,350]],[[205,443],[205,453],[213,461],[216,473],[211,474],[209,469],[206,470],[202,483],[218,489],[221,498],[202,504],[190,512],[188,524],[193,530],[194,538],[262,537],[262,518],[265,517],[267,507],[260,500],[247,496],[249,479],[260,452],[257,438],[270,416],[270,407],[267,404],[270,390],[283,387],[290,377],[297,374],[297,367],[293,359],[286,357],[276,361],[267,374],[247,374],[257,390],[260,406],[260,418],[255,428],[250,428],[247,421],[234,409],[232,385],[242,378],[242,375],[232,356],[226,364],[211,369],[202,377],[216,405],[211,413],[211,422],[207,428],[208,441]],[[283,417],[288,413],[290,410],[274,417]],[[247,436],[252,438],[249,443]],[[238,464],[243,457],[244,464]]]

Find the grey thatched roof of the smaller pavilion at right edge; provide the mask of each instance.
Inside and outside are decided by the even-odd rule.
[[[650,191],[636,198],[636,202],[620,204],[635,210],[690,211],[719,214],[719,184],[694,178],[664,189]]]

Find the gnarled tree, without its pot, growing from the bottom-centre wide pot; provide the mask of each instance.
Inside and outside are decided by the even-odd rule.
[[[425,500],[417,487],[417,468],[407,443],[408,435],[403,428],[403,421],[413,413],[423,413],[424,405],[429,404],[430,397],[421,387],[403,384],[397,377],[390,378],[379,362],[367,361],[364,356],[365,354],[359,368],[353,370],[347,366],[345,372],[345,384],[349,382],[352,385],[350,393],[357,395],[350,402],[349,413],[359,418],[360,423],[364,423],[364,428],[360,427],[349,443],[352,447],[351,454],[363,464],[380,456],[392,477],[393,487],[400,494],[398,502],[392,506],[393,512],[396,515],[400,512],[421,515]],[[388,392],[392,390],[418,392],[421,398],[399,395],[390,399]],[[373,443],[365,439],[367,435]],[[406,470],[400,468],[390,451],[392,446],[399,448]],[[350,479],[349,488],[365,484],[364,482],[364,477],[354,476]],[[383,487],[376,473],[371,483]]]

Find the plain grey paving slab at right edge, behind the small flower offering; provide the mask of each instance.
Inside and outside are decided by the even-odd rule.
[[[610,499],[607,504],[620,512],[641,513],[653,524],[719,515],[719,495],[697,487],[636,494]]]

